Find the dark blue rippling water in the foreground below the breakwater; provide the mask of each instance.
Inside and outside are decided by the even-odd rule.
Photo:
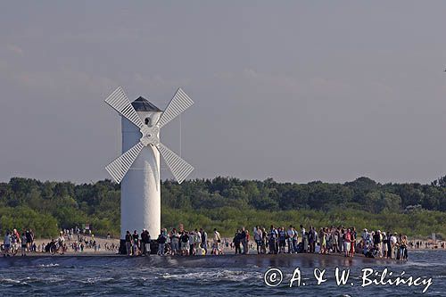
[[[446,252],[411,252],[407,263],[337,256],[278,255],[170,258],[28,257],[0,259],[1,296],[408,296],[425,285],[368,285],[361,287],[361,269],[388,268],[393,276],[432,278],[424,295],[446,296]],[[268,268],[280,268],[277,287],[264,284]],[[351,269],[347,285],[337,286],[335,268]],[[305,286],[289,287],[295,268]],[[326,282],[317,285],[313,269],[326,269]],[[351,285],[353,283],[353,285]]]

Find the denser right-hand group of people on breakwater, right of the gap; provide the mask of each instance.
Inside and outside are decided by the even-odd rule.
[[[320,227],[302,225],[299,229],[290,225],[285,227],[256,226],[253,228],[257,253],[342,253],[345,257],[354,257],[362,253],[370,258],[408,259],[408,238],[397,233],[385,233],[381,230],[368,232],[364,229],[358,235],[355,227]],[[233,239],[235,253],[248,253],[249,232],[243,227],[235,232]]]

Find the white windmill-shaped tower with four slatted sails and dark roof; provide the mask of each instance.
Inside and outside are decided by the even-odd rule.
[[[105,99],[121,116],[122,155],[105,169],[120,183],[120,239],[145,228],[156,238],[161,230],[160,154],[181,184],[194,170],[160,142],[160,129],[194,102],[178,88],[165,111],[145,98],[133,103],[118,87]]]

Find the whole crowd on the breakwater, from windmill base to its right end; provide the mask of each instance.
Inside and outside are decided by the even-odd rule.
[[[256,226],[252,235],[242,227],[235,231],[232,240],[222,238],[217,229],[214,229],[211,238],[203,228],[192,231],[173,228],[169,232],[164,228],[156,238],[151,238],[144,229],[140,235],[136,230],[133,234],[128,231],[125,241],[128,256],[145,256],[151,252],[161,256],[206,255],[210,249],[209,253],[219,255],[231,249],[235,250],[235,254],[247,254],[251,250],[258,254],[338,253],[354,257],[362,253],[370,258],[396,260],[408,260],[409,246],[419,245],[409,243],[406,235],[381,230],[364,229],[359,234],[355,227],[321,227],[317,230],[310,226],[307,230],[302,225],[298,229],[292,225],[288,228],[270,226],[268,230]],[[153,242],[157,243],[154,251]]]

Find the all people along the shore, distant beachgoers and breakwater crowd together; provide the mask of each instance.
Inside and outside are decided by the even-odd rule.
[[[107,235],[111,239],[111,235]],[[395,260],[408,260],[408,249],[436,248],[431,242],[408,241],[406,235],[396,232],[382,232],[381,230],[369,231],[363,229],[357,232],[355,227],[312,227],[308,229],[302,225],[298,228],[289,227],[253,227],[252,234],[245,227],[235,231],[232,238],[223,238],[217,228],[211,235],[203,228],[195,228],[186,231],[182,226],[168,231],[161,229],[159,235],[154,238],[145,229],[140,234],[135,230],[127,231],[125,236],[124,251],[128,256],[147,256],[151,253],[158,255],[220,255],[234,250],[235,254],[278,254],[278,253],[320,253],[343,254],[345,257],[354,257],[362,253],[370,258],[388,258]],[[441,248],[446,248],[441,242]],[[17,229],[6,231],[4,244],[1,250],[4,257],[21,252],[26,256],[27,252],[50,252],[64,254],[67,251],[84,252],[118,252],[119,244],[97,243],[91,230],[81,231],[76,228],[62,230],[58,237],[49,243],[36,243],[35,235],[31,229]],[[122,249],[122,248],[121,248]],[[232,251],[231,251],[232,252]]]

